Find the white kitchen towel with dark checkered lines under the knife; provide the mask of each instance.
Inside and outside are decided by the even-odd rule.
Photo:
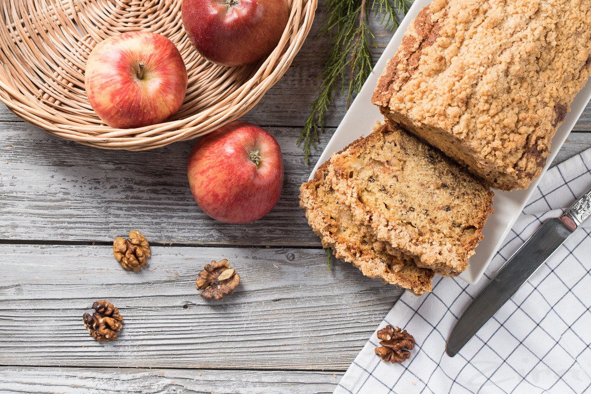
[[[491,275],[550,217],[591,187],[591,149],[551,168],[476,285],[434,279],[433,292],[405,292],[379,328],[406,328],[417,346],[402,364],[374,354],[376,333],[335,394],[591,394],[591,219],[480,329],[455,357],[447,336]]]

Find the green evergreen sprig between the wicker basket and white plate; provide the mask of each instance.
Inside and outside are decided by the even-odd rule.
[[[359,92],[374,66],[371,47],[375,36],[369,28],[369,15],[381,15],[380,24],[393,30],[398,27],[397,12],[408,11],[407,0],[326,0],[320,35],[329,37],[329,50],[320,76],[322,82],[318,96],[310,104],[310,115],[301,131],[297,144],[302,143],[304,160],[309,164],[310,149],[316,148],[324,127],[324,115],[333,102],[333,94],[340,85],[340,95],[347,86],[347,108],[352,96]]]

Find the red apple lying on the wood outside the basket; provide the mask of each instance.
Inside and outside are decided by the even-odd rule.
[[[259,126],[232,122],[197,142],[187,173],[193,197],[206,214],[220,222],[252,222],[279,200],[281,149]]]

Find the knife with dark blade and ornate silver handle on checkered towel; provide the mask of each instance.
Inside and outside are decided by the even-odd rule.
[[[447,355],[455,356],[590,215],[591,190],[579,198],[563,216],[546,220],[467,307],[447,338]]]

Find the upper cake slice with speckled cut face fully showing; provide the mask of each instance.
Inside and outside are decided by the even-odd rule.
[[[441,275],[458,275],[482,239],[492,191],[389,123],[330,158],[326,181],[378,240]]]

